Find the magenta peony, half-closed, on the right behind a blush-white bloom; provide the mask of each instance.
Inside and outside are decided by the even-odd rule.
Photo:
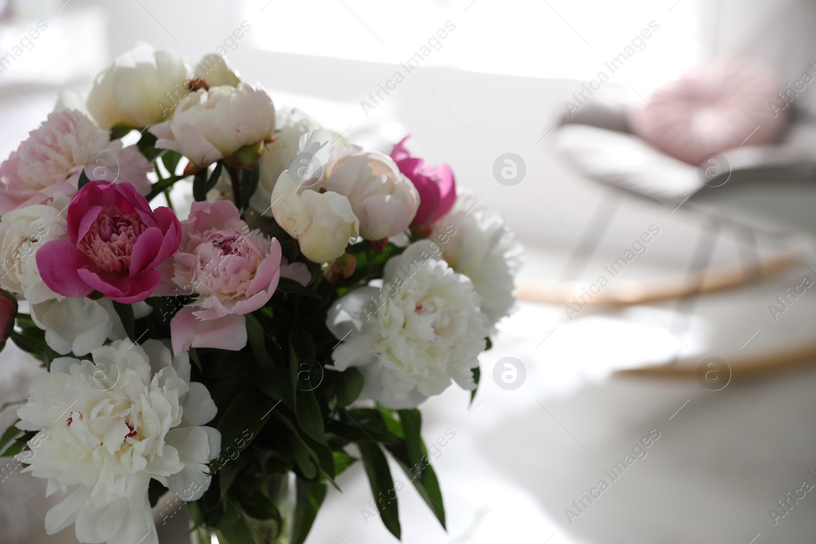
[[[419,192],[419,210],[417,210],[411,227],[424,227],[448,213],[456,201],[456,182],[450,166],[428,166],[422,159],[411,157],[405,148],[406,139],[401,139],[391,152],[391,158],[397,163],[402,174],[414,182]]]

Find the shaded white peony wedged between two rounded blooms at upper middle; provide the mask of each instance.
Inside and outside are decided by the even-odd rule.
[[[260,156],[258,188],[250,198],[250,206],[266,216],[272,215],[269,199],[275,182],[282,171],[287,170],[295,160],[300,138],[307,132],[320,128],[317,121],[297,108],[278,108],[275,116],[275,141],[266,144],[264,153]]]

